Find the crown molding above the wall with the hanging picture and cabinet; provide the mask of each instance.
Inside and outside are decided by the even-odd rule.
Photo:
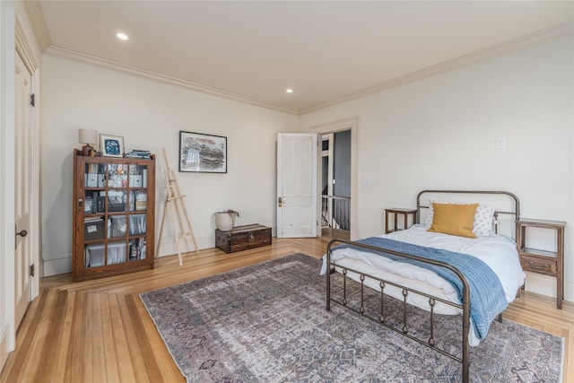
[[[158,74],[158,73],[148,71],[148,70],[145,70],[142,68],[138,68],[138,67],[135,67],[132,65],[120,64],[120,63],[117,63],[115,61],[106,60],[106,59],[103,59],[100,57],[86,55],[86,54],[76,52],[76,51],[70,50],[70,49],[60,48],[57,46],[51,46],[50,48],[47,49],[46,53],[51,54],[53,56],[57,56],[57,57],[64,57],[64,58],[68,58],[68,59],[75,60],[75,61],[81,61],[83,63],[87,63],[87,64],[91,64],[91,65],[97,65],[97,66],[105,67],[108,69],[116,70],[118,72],[135,74],[135,75],[138,75],[140,77],[160,81],[162,83],[170,83],[172,85],[182,86],[184,88],[187,88],[187,89],[190,89],[193,91],[202,91],[204,93],[212,94],[214,96],[222,97],[224,99],[245,102],[245,103],[248,103],[251,105],[256,105],[258,107],[267,108],[267,109],[274,109],[274,110],[278,110],[278,111],[281,111],[284,113],[290,113],[293,115],[299,114],[297,109],[285,108],[285,107],[282,107],[280,105],[275,105],[275,104],[270,103],[270,102],[265,102],[262,100],[250,98],[248,96],[243,96],[240,94],[231,93],[230,91],[222,91],[219,89],[211,88],[209,86],[204,86],[204,85],[201,85],[198,83],[192,83],[192,82],[189,82],[186,80],[178,79],[176,77],[171,77],[171,76],[166,75],[166,74]]]

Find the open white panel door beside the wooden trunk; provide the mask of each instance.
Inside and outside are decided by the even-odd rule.
[[[277,135],[277,238],[317,237],[317,135]]]

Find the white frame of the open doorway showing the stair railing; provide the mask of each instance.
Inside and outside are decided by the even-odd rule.
[[[359,130],[359,117],[355,116],[352,118],[344,118],[341,120],[328,122],[326,124],[320,124],[316,126],[311,126],[311,133],[316,133],[317,135],[326,135],[327,133],[343,132],[346,130],[351,131],[351,239],[357,239],[358,237],[358,227],[357,227],[357,208],[358,201],[357,196],[358,190],[358,179],[359,173],[357,171],[359,161],[357,161],[357,143],[358,143],[358,130]],[[319,158],[317,163],[321,163],[321,151],[317,151]],[[318,201],[321,199],[321,167],[317,166],[317,198]],[[317,217],[320,217],[321,204],[317,203]],[[320,221],[320,220],[318,220]],[[321,236],[321,222],[318,222],[317,236]]]

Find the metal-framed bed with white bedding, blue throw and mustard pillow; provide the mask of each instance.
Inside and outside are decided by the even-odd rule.
[[[480,344],[494,318],[501,320],[502,311],[515,300],[526,277],[512,239],[516,238],[519,205],[517,196],[506,191],[422,190],[410,229],[359,241],[331,240],[321,270],[326,274],[327,311],[331,302],[337,303],[459,361],[463,382],[469,382],[469,347]],[[332,296],[332,270],[361,281],[359,309],[347,304],[346,276],[343,289],[337,290],[342,298]],[[369,288],[383,290],[379,315],[364,307],[363,291]],[[384,295],[404,301],[399,309],[402,325],[387,323]],[[410,334],[409,304],[430,311],[428,338]],[[437,344],[435,314],[462,317],[461,353],[457,347],[447,350]]]

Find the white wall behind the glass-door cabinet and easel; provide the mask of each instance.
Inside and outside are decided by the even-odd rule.
[[[49,49],[43,57],[42,90],[46,275],[70,272],[72,267],[72,153],[82,146],[79,127],[123,136],[126,152],[156,153],[156,245],[165,203],[161,149],[166,149],[170,167],[177,172],[180,130],[224,135],[228,140],[227,174],[177,172],[199,248],[214,247],[216,211],[239,211],[238,225],[275,226],[276,135],[295,131],[296,116],[59,57]],[[161,255],[176,253],[167,221]]]

